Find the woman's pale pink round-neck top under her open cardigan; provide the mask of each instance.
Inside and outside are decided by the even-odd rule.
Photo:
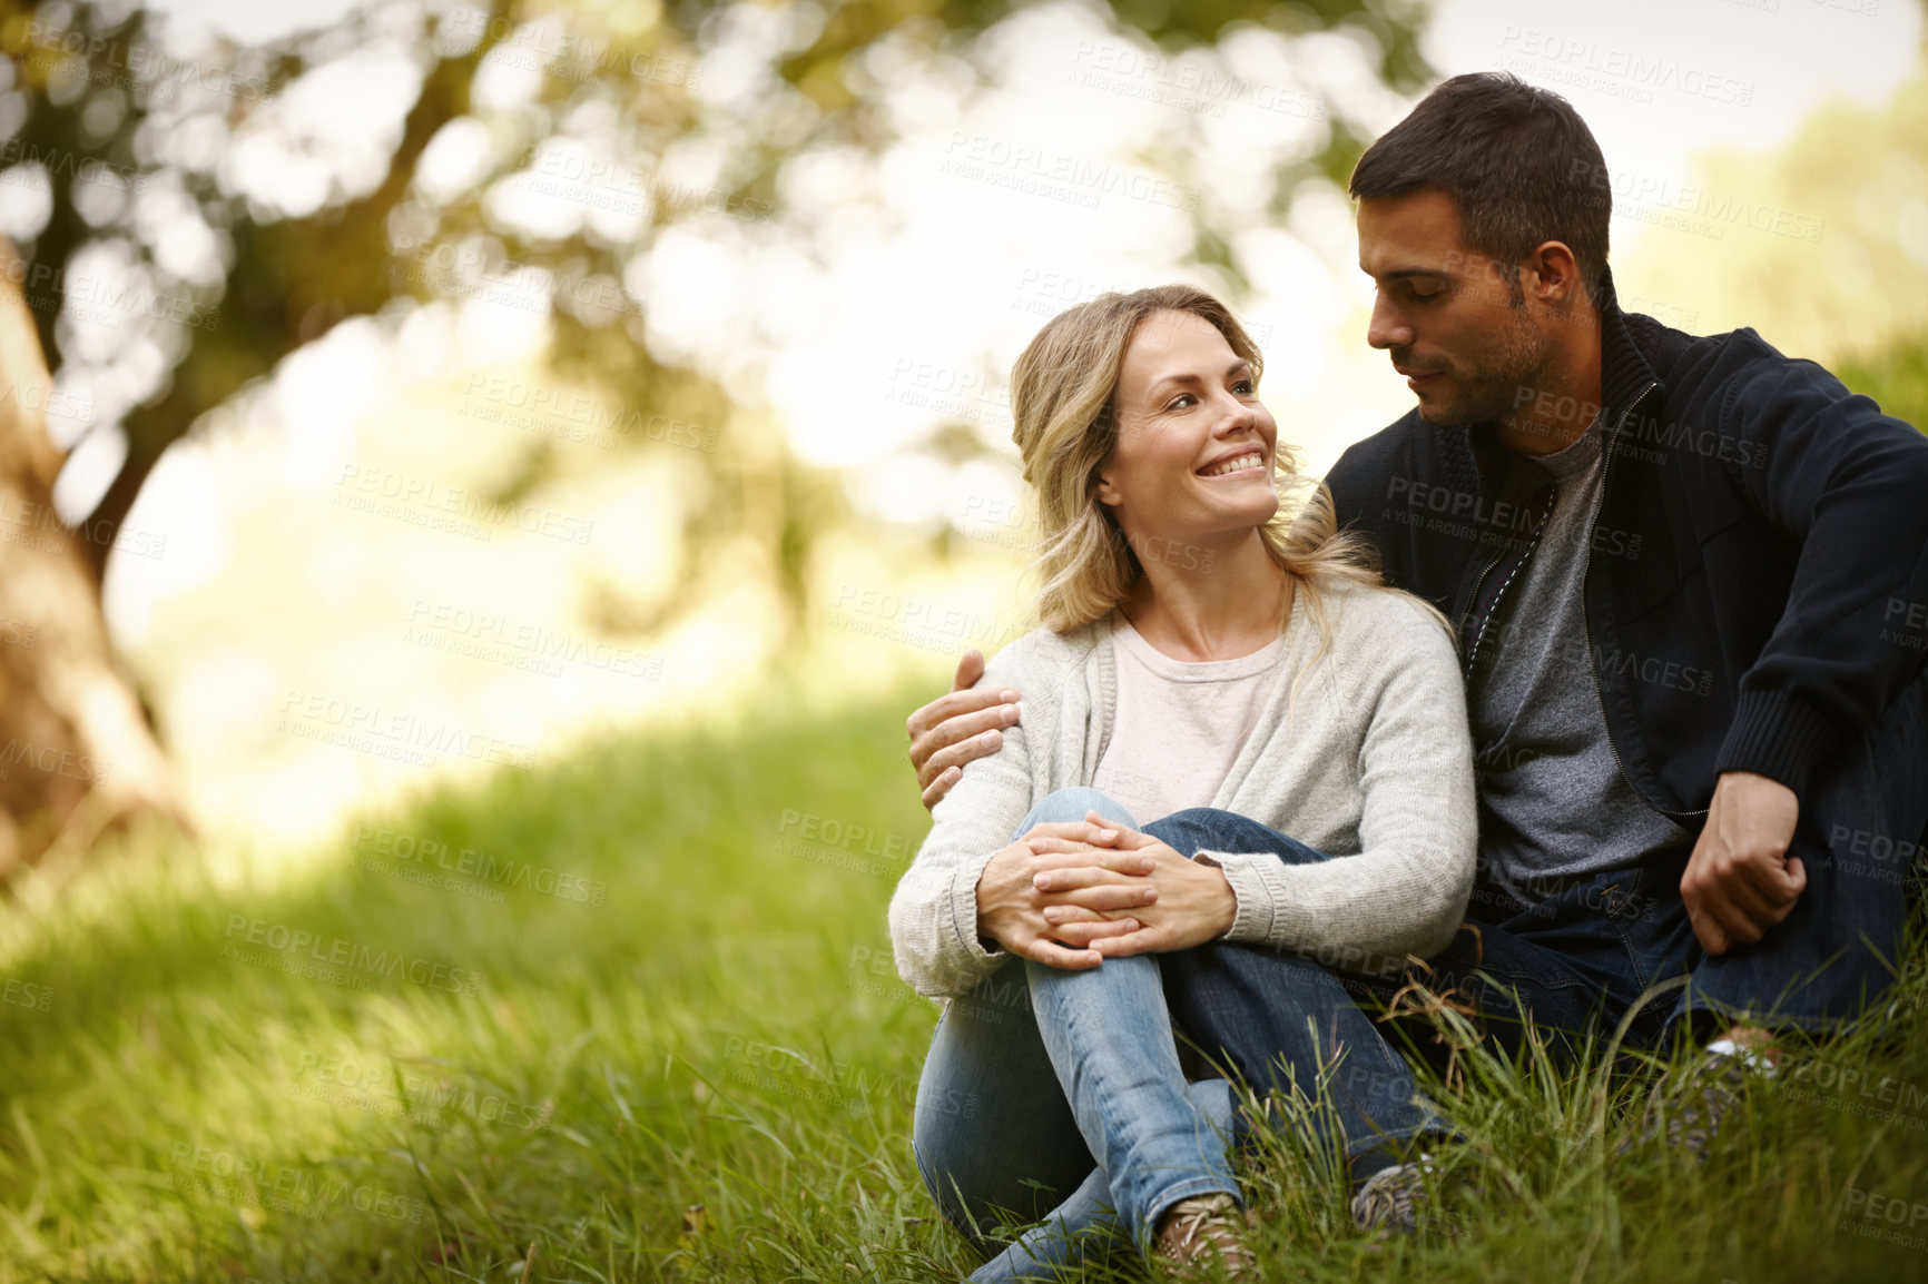
[[[1118,715],[1091,787],[1139,825],[1209,808],[1265,711],[1284,636],[1238,659],[1172,659],[1112,615]]]

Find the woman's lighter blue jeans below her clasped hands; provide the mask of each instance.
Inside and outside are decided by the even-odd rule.
[[[1066,789],[1018,835],[1087,810],[1136,827],[1105,794]],[[945,1220],[983,1251],[1001,1247],[987,1234],[999,1211],[1049,1209],[972,1274],[1012,1280],[1053,1274],[1120,1234],[1145,1249],[1180,1199],[1238,1195],[1230,1132],[1230,1085],[1186,1083],[1155,956],[1089,972],[1014,958],[937,1022],[912,1149]]]

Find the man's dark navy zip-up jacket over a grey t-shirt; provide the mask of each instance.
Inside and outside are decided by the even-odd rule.
[[[1612,287],[1600,359],[1585,613],[1614,756],[1689,827],[1722,771],[1805,796],[1928,657],[1928,438],[1753,330],[1681,334]],[[1504,459],[1490,426],[1413,411],[1326,476],[1340,524],[1461,638],[1504,592],[1488,569],[1535,532],[1537,513],[1494,499]]]

